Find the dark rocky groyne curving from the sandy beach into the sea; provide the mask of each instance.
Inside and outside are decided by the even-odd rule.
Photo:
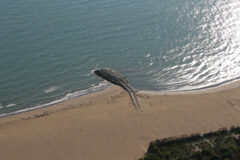
[[[124,78],[120,73],[112,69],[99,69],[99,70],[93,71],[93,73],[98,75],[102,79],[111,82],[112,84],[122,87],[125,91],[128,92],[134,107],[136,108],[136,104],[137,104],[137,106],[140,108],[134,89],[130,86],[130,84],[128,84],[128,80]],[[134,102],[132,94],[135,98],[136,103]]]

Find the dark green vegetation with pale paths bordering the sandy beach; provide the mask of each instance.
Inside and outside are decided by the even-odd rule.
[[[139,160],[240,160],[240,127],[151,142]]]

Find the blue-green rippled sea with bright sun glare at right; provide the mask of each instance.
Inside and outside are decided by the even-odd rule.
[[[236,0],[1,0],[0,116],[106,88],[112,68],[138,90],[239,78]]]

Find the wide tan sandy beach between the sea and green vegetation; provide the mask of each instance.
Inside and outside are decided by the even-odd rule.
[[[1,160],[135,160],[155,139],[240,125],[240,82],[202,91],[138,92],[117,86],[0,119]]]

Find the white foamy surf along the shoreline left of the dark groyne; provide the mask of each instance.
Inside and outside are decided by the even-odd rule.
[[[104,90],[104,89],[108,88],[110,85],[111,84],[108,83],[107,81],[103,81],[103,82],[100,82],[99,84],[94,85],[94,86],[92,86],[88,89],[75,91],[73,93],[68,93],[63,98],[54,100],[52,102],[45,103],[45,104],[40,104],[40,105],[37,105],[37,106],[34,106],[34,107],[25,108],[25,109],[21,109],[21,110],[10,112],[10,113],[4,113],[4,114],[1,114],[0,117],[5,117],[5,116],[9,116],[9,115],[14,115],[14,114],[22,113],[22,112],[32,111],[32,110],[35,110],[35,109],[51,106],[51,105],[54,105],[54,104],[57,104],[57,103],[64,102],[66,100],[70,100],[70,99],[73,99],[73,98],[76,98],[76,97],[80,97],[80,96],[83,96],[83,95],[87,95],[87,94],[90,94],[90,93],[94,93],[94,92]],[[15,105],[16,104],[9,104],[6,107],[12,107],[12,106],[15,106]],[[4,108],[4,106],[2,106],[2,104],[0,103],[0,108],[1,107]]]

